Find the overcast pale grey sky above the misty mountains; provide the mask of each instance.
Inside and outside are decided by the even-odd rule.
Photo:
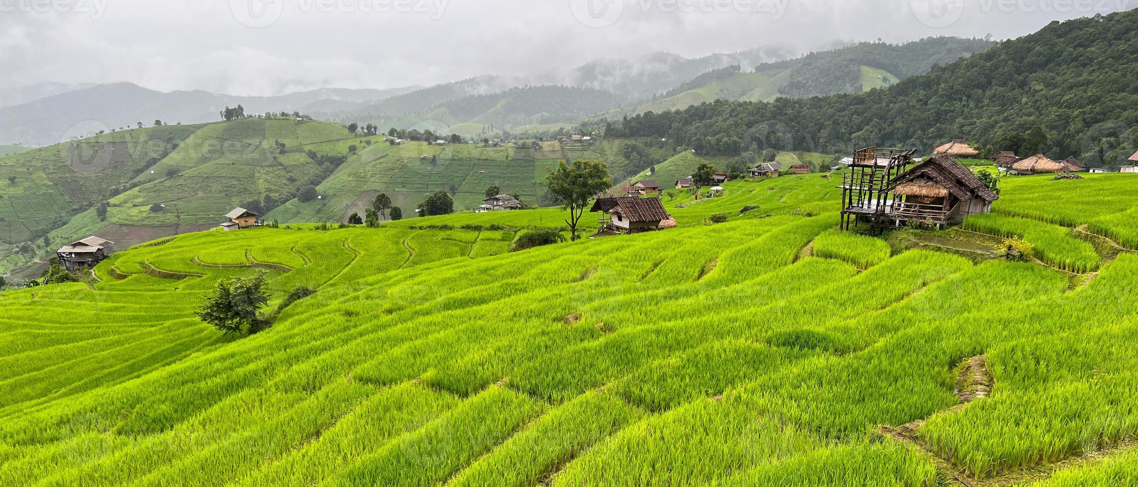
[[[1138,0],[0,0],[0,87],[382,89],[654,51],[1009,39],[1133,7]]]

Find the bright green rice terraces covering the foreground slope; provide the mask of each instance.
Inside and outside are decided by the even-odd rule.
[[[321,192],[421,194],[424,148]],[[462,150],[429,169],[460,194],[536,191],[538,159]],[[1133,177],[1005,178],[991,215],[881,237],[836,230],[840,179],[674,192],[675,228],[518,252],[566,212],[215,229],[5,291],[0,485],[1138,485]],[[270,328],[195,314],[262,271]]]

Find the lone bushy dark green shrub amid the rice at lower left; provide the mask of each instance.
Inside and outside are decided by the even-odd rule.
[[[213,294],[196,311],[201,321],[222,331],[253,335],[269,326],[269,320],[259,313],[269,303],[264,287],[265,271],[253,277],[233,277],[217,282]]]

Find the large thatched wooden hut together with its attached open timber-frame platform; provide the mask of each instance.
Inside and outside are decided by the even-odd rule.
[[[842,178],[842,229],[858,221],[875,229],[925,221],[946,227],[991,211],[999,196],[948,154],[913,165],[915,149],[867,148],[853,152]]]

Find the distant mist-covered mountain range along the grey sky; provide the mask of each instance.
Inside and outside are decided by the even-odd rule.
[[[921,58],[916,60],[920,66],[914,68],[892,74],[882,72],[883,77],[900,79],[927,70],[932,65],[929,59],[953,60],[989,45],[991,43],[979,40],[930,37],[900,45],[875,44],[873,50],[876,58],[888,59],[894,52]],[[149,126],[155,120],[168,125],[213,121],[225,107],[237,104],[248,115],[299,111],[331,121],[430,128],[468,136],[489,129],[550,127],[589,116],[678,109],[717,98],[761,100],[857,91],[863,86],[858,66],[885,67],[882,62],[867,60],[865,47],[866,43],[846,45],[806,57],[795,57],[795,52],[784,47],[693,59],[655,52],[634,59],[599,59],[575,68],[546,69],[528,76],[486,75],[429,87],[319,89],[278,96],[240,96],[200,90],[167,93],[133,83],[41,83],[0,90],[0,144],[48,145],[100,129],[133,127],[139,123]],[[937,56],[926,56],[927,52]],[[847,69],[827,76],[826,69],[836,66],[833,59],[841,60]],[[777,76],[768,70],[772,66],[782,66],[785,73]],[[747,73],[756,69],[756,74],[744,73],[732,79],[718,74],[725,69],[737,72],[740,67]],[[760,75],[760,72],[766,74]],[[786,86],[793,86],[795,81],[801,86],[787,91]],[[865,89],[869,87],[880,86]]]

